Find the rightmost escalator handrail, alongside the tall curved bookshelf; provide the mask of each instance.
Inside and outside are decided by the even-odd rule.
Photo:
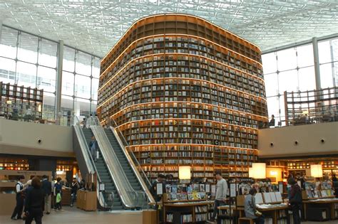
[[[150,191],[149,191],[149,187],[151,186],[150,185],[150,181],[148,179],[148,177],[145,175],[145,172],[143,171],[142,169],[142,166],[140,166],[140,163],[138,162],[138,160],[136,159],[135,157],[135,154],[133,154],[133,152],[131,151],[131,153],[129,153],[127,150],[126,150],[126,147],[123,145],[123,143],[121,142],[121,138],[119,137],[118,133],[116,132],[116,129],[114,129],[113,127],[111,127],[111,131],[113,132],[113,134],[116,136],[116,139],[118,140],[118,144],[120,144],[121,146],[121,149],[123,151],[123,154],[125,154],[127,160],[129,161],[129,164],[131,166],[131,168],[133,169],[134,171],[134,174],[135,176],[138,178],[138,181],[140,183],[140,186],[142,186],[143,188],[143,193],[145,193],[145,195],[147,195],[147,198],[148,198],[148,201],[150,203],[155,203],[155,200],[153,198],[153,196],[151,195]],[[133,156],[133,158],[135,159],[135,162],[137,163],[138,165],[138,168],[136,168],[135,166],[135,162],[133,161],[133,159],[131,158],[130,154]],[[143,176],[144,178],[142,177],[142,175],[140,174],[140,172],[143,173]],[[148,181],[148,186],[147,186],[147,182]]]

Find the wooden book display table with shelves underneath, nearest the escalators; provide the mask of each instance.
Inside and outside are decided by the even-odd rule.
[[[163,223],[204,223],[210,219],[214,201],[164,203]]]

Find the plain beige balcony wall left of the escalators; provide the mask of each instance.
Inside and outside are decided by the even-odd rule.
[[[0,154],[73,157],[72,133],[71,127],[0,119]]]

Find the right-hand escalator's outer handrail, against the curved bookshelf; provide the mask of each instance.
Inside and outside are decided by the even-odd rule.
[[[123,151],[123,154],[126,156],[131,168],[133,169],[133,172],[135,174],[135,176],[138,178],[138,182],[140,183],[140,186],[143,188],[143,191],[142,193],[145,193],[145,195],[147,196],[148,198],[148,201],[150,203],[155,203],[155,199],[153,198],[153,196],[151,195],[150,191],[149,191],[149,188],[147,187],[145,181],[143,180],[142,176],[140,175],[140,172],[138,171],[138,169],[136,168],[135,166],[135,163],[133,161],[133,159],[130,158],[130,154],[128,151],[126,151],[126,147],[123,146],[123,143],[121,142],[121,139],[119,138],[118,136],[118,133],[116,132],[116,129],[114,129],[113,127],[111,127],[111,132],[113,132],[113,134],[115,135],[117,141],[118,141],[118,144],[120,144],[121,146],[121,149]],[[118,137],[118,138],[117,138]],[[135,156],[133,153],[132,153],[133,156]],[[137,160],[136,160],[137,161]],[[138,164],[139,168],[140,168],[140,171],[143,172],[143,175],[145,176],[145,173],[142,169],[142,167],[140,166],[140,164]],[[145,176],[146,178],[146,176]],[[148,180],[148,178],[147,178]],[[148,180],[149,181],[149,180]]]

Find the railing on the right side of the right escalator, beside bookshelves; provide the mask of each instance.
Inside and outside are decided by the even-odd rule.
[[[116,136],[118,136],[118,142],[121,145],[121,149],[123,150],[123,153],[126,155],[127,159],[130,160],[130,165],[132,166],[136,176],[138,177],[138,180],[141,183],[141,186],[143,187],[143,190],[145,191],[145,193],[148,195],[148,200],[152,203],[155,203],[155,200],[153,198],[153,196],[151,195],[149,189],[151,188],[151,183],[149,181],[148,176],[145,174],[143,167],[140,165],[140,162],[138,161],[138,159],[136,158],[135,154],[133,153],[132,150],[130,150],[130,147],[126,138],[123,136],[121,130],[118,127],[118,124],[116,123],[116,121],[114,119],[112,119],[115,125],[114,127],[111,127],[111,130],[113,132],[113,134],[115,134]],[[120,142],[119,140],[123,141]]]

